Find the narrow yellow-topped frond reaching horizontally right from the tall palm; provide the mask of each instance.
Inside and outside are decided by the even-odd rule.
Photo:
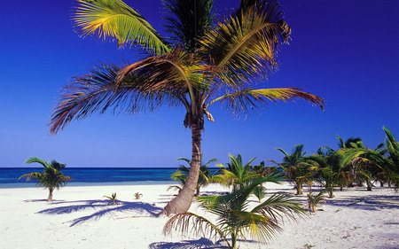
[[[324,110],[323,104],[325,100],[322,97],[317,97],[298,88],[240,89],[232,93],[226,93],[221,97],[216,97],[207,106],[214,104],[216,101],[222,101],[222,105],[226,105],[226,110],[235,113],[239,117],[240,113],[248,115],[250,111],[257,109],[258,105],[268,105],[269,102],[277,103],[277,101],[293,101],[296,98],[307,100],[313,105],[319,105]]]

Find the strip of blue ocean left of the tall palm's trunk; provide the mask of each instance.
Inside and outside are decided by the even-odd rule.
[[[71,186],[82,185],[130,185],[176,183],[170,175],[177,168],[146,167],[66,167],[64,175],[74,178],[67,183]],[[42,172],[43,167],[0,167],[0,188],[35,187],[35,180],[18,180],[20,175]]]

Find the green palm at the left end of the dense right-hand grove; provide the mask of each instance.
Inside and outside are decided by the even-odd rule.
[[[296,194],[301,195],[302,185],[312,183],[313,172],[310,169],[316,165],[315,162],[305,157],[303,144],[296,145],[292,154],[288,154],[281,148],[277,148],[277,150],[285,155],[283,163],[278,165],[285,171],[287,180],[294,183]]]

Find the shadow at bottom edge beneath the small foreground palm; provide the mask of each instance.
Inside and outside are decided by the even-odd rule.
[[[201,237],[198,240],[184,240],[182,242],[154,242],[148,246],[150,249],[211,249],[211,248],[228,248],[220,245],[220,241],[215,244],[205,238]]]

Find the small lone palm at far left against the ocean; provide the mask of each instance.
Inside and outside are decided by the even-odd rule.
[[[25,161],[25,163],[40,163],[44,169],[42,173],[32,172],[29,174],[21,175],[18,180],[23,177],[27,177],[27,181],[30,181],[32,178],[37,180],[37,185],[44,187],[45,189],[49,189],[49,197],[47,201],[52,201],[52,192],[55,189],[59,189],[60,187],[66,185],[67,182],[72,181],[72,177],[63,175],[61,172],[61,168],[66,167],[66,164],[61,164],[56,160],[51,160],[51,162],[46,162],[36,157],[29,158]]]

